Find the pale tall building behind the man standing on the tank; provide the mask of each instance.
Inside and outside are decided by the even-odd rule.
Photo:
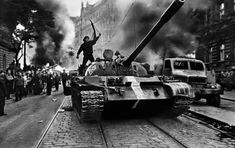
[[[93,36],[90,20],[94,23],[97,35],[98,33],[102,34],[94,48],[104,49],[115,34],[120,18],[118,14],[115,0],[101,0],[94,5],[87,3],[86,6],[82,3],[81,16],[72,18],[76,31],[75,49],[77,50],[83,43],[84,36]]]

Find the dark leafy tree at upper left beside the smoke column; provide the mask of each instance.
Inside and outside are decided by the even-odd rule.
[[[40,42],[39,35],[55,27],[53,13],[43,8],[36,0],[3,0],[0,2],[0,14],[0,20],[12,33],[17,63],[22,45]],[[24,28],[16,29],[19,24]]]

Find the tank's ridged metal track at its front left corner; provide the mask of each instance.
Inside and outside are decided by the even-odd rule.
[[[81,121],[99,120],[104,109],[103,91],[81,91]]]

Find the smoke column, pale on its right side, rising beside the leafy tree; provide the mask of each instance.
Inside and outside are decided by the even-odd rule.
[[[59,0],[36,1],[46,10],[53,12],[55,28],[42,34],[42,42],[38,42],[33,63],[35,65],[59,64],[63,67],[73,64],[75,59],[71,58],[70,51],[75,38],[75,27],[65,4]]]

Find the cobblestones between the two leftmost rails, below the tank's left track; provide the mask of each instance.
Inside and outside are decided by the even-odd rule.
[[[71,99],[65,98],[61,108],[71,107]],[[80,124],[73,111],[61,110],[55,118],[40,148],[102,148],[103,139],[96,123]]]

